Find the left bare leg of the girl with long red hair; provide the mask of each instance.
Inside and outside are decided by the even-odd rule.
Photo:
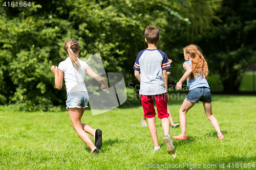
[[[180,107],[180,128],[181,128],[181,135],[186,136],[186,126],[187,126],[187,120],[186,120],[186,113],[187,111],[193,107],[196,103],[189,102],[186,99],[183,101],[181,107]]]

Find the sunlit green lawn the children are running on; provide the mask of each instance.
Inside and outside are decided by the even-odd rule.
[[[168,155],[163,143],[160,119],[156,120],[161,151],[154,145],[148,128],[141,127],[142,107],[114,109],[92,116],[87,110],[82,122],[103,132],[99,155],[89,148],[70,125],[68,112],[15,112],[0,110],[0,169],[190,169],[150,168],[153,164],[216,164],[216,168],[241,169],[244,163],[256,166],[255,96],[213,95],[212,109],[226,140],[204,114],[201,103],[187,113],[188,140],[174,140],[176,155]],[[169,101],[174,122],[182,100]],[[170,135],[179,135],[180,128]],[[228,168],[228,163],[234,168]],[[225,168],[220,168],[220,164]],[[239,168],[235,168],[239,163]],[[166,164],[165,164],[166,165]],[[156,165],[157,166],[157,165]],[[194,168],[195,169],[195,168]],[[242,168],[245,169],[245,168]],[[254,168],[250,168],[254,169]]]

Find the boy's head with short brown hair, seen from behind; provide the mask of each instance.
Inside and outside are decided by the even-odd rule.
[[[145,30],[145,38],[148,43],[154,44],[157,43],[160,33],[158,28],[154,26],[147,26]]]

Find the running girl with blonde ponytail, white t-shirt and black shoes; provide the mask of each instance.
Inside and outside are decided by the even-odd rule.
[[[84,83],[84,73],[87,72],[88,75],[101,83],[102,90],[105,91],[109,87],[105,80],[98,76],[86,62],[79,59],[79,44],[76,40],[70,39],[66,41],[64,50],[67,53],[67,59],[60,62],[58,67],[51,67],[55,76],[55,86],[60,90],[64,77],[67,88],[66,108],[69,112],[71,125],[77,135],[91,149],[91,153],[98,154],[102,146],[102,131],[100,129],[93,129],[88,124],[81,123],[83,112],[88,107],[89,100],[87,88]],[[92,142],[87,133],[94,137],[95,143]]]

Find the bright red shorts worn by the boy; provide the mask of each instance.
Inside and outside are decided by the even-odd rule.
[[[158,118],[169,117],[165,93],[157,95],[140,95],[144,117],[155,117],[154,99],[157,105]]]

